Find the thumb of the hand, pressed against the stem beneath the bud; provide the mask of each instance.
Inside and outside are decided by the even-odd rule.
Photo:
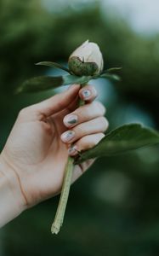
[[[73,84],[68,90],[33,105],[34,109],[37,110],[38,113],[43,113],[46,117],[48,117],[70,105],[77,96],[79,89],[80,84]]]

